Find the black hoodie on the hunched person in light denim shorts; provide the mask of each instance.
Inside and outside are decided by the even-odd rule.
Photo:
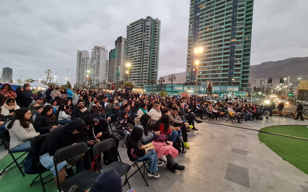
[[[85,129],[84,121],[81,119],[76,119],[71,121],[71,123],[52,130],[43,143],[39,151],[39,155],[44,155],[48,152],[50,156],[53,156],[58,149],[67,147],[73,143],[79,143],[79,133],[72,134],[75,129],[78,131],[83,131]]]

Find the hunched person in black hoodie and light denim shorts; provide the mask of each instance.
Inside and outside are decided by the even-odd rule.
[[[55,170],[53,156],[55,152],[63,147],[74,145],[80,142],[79,132],[85,130],[85,122],[81,119],[76,119],[71,123],[60,126],[53,131],[51,131],[39,151],[39,160],[43,167],[50,170],[54,176],[55,185],[57,185],[56,171],[58,171],[59,182],[65,181],[65,166],[66,161],[58,163],[57,169]],[[77,163],[84,154],[78,155],[71,159],[68,163],[67,168],[71,168],[75,163]],[[77,170],[78,172],[78,170]]]

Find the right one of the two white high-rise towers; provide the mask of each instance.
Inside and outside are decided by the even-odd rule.
[[[104,46],[94,46],[91,51],[90,72],[91,84],[107,81],[108,77],[108,50]]]

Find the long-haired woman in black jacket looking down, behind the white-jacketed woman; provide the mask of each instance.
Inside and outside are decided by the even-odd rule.
[[[34,121],[34,128],[41,134],[49,133],[57,128],[58,120],[54,115],[54,108],[51,105],[45,105],[41,114]]]

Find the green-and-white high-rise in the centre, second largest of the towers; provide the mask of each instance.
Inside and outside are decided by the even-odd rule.
[[[128,80],[136,86],[157,80],[160,20],[151,16],[140,18],[126,27],[126,62],[130,63]],[[128,69],[126,69],[128,71]]]

